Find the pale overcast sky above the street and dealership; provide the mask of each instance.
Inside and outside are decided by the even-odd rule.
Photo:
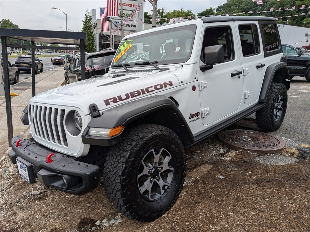
[[[130,0],[123,0],[130,2]],[[157,8],[164,11],[173,11],[183,8],[191,10],[195,15],[209,9],[223,5],[226,0],[158,0]],[[0,0],[0,20],[10,19],[20,29],[65,31],[67,14],[68,31],[82,30],[82,20],[86,10],[97,10],[97,19],[100,18],[99,7],[106,7],[106,0]],[[49,9],[49,7],[59,8]],[[144,2],[144,11],[151,14],[153,6]]]

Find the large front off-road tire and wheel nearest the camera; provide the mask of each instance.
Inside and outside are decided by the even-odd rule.
[[[170,129],[153,124],[125,131],[104,163],[108,200],[120,213],[137,221],[154,221],[169,210],[179,197],[184,178],[181,140]]]

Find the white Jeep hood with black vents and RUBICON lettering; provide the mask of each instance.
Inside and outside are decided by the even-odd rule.
[[[92,103],[104,110],[178,85],[179,80],[170,70],[112,73],[51,89],[34,96],[30,102],[74,106],[89,114]]]

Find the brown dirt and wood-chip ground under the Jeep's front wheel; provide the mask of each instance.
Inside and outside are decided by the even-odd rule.
[[[254,159],[266,154],[225,147],[215,154],[219,145],[213,136],[185,150],[187,177],[179,199],[148,223],[119,215],[101,184],[76,196],[12,173],[2,192],[7,200],[0,208],[0,231],[310,231],[309,158],[263,165]],[[111,218],[118,219],[113,226],[95,225]]]

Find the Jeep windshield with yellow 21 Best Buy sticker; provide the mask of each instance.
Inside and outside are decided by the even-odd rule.
[[[112,67],[136,67],[142,62],[175,64],[188,61],[191,56],[196,25],[170,28],[123,40],[117,49]],[[122,67],[120,67],[122,68]]]

